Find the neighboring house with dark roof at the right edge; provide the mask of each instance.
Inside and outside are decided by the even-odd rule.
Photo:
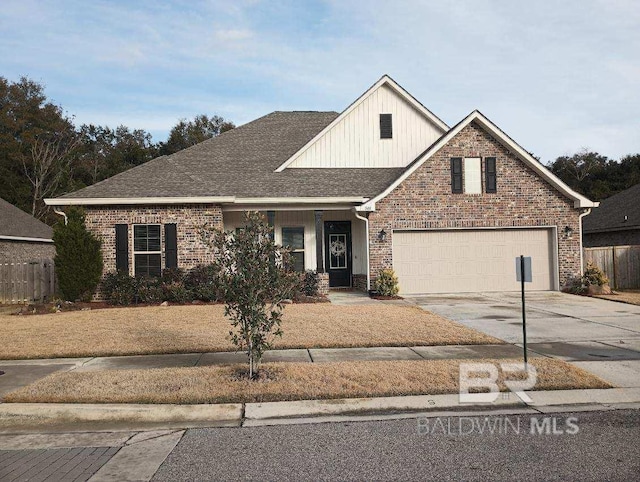
[[[640,246],[640,184],[605,199],[582,222],[585,248]]]

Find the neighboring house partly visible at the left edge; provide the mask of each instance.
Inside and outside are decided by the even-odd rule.
[[[0,261],[29,262],[53,258],[50,226],[0,199]]]

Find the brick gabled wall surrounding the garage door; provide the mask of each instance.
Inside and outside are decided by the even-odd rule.
[[[487,156],[496,157],[497,193],[452,194],[450,159]],[[563,286],[580,274],[579,214],[571,199],[471,123],[369,214],[371,282],[381,269],[393,267],[393,235],[378,240],[382,229],[392,233],[394,229],[557,226]],[[571,238],[564,235],[565,226],[573,229]]]

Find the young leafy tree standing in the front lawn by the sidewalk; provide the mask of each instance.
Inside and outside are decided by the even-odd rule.
[[[285,268],[289,254],[273,241],[273,228],[264,216],[248,213],[245,223],[236,232],[205,227],[203,237],[215,251],[225,316],[234,328],[229,335],[240,350],[246,350],[253,379],[265,350],[282,336],[283,302],[293,296],[299,278]]]

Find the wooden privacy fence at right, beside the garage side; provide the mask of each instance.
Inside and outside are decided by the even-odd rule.
[[[640,288],[640,246],[585,248],[585,267],[589,261],[604,271],[613,289]]]

